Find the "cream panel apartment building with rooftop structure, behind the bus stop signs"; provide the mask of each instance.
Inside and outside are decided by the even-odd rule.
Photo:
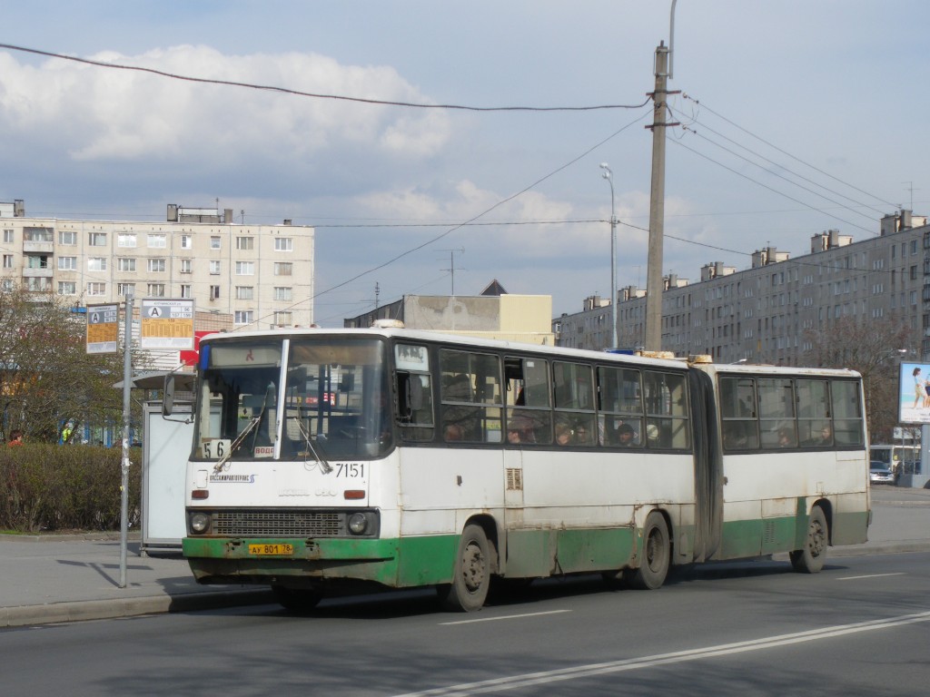
[[[165,222],[27,217],[0,204],[0,283],[73,299],[193,298],[198,312],[267,329],[313,322],[313,228],[233,222],[232,209],[168,204]]]

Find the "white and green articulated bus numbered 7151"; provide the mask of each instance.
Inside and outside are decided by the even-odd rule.
[[[468,612],[508,579],[653,589],[674,565],[777,552],[818,572],[870,522],[846,370],[276,330],[202,340],[193,419],[196,580],[296,611],[433,585]]]

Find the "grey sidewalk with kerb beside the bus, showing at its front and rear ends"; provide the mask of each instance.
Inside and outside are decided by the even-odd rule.
[[[828,559],[930,551],[930,490],[872,487],[869,538],[830,547]],[[137,535],[120,588],[118,533],[0,535],[0,628],[273,602],[263,587],[197,585],[179,553],[139,549]]]

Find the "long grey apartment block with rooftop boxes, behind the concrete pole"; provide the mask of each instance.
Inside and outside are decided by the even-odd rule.
[[[805,335],[844,316],[899,316],[923,335],[930,352],[930,227],[910,211],[885,216],[879,234],[860,242],[828,230],[811,238],[809,255],[765,247],[751,269],[721,262],[705,265],[699,283],[665,279],[662,349],[677,356],[708,354],[714,362],[797,365],[811,349]],[[621,349],[642,348],[645,293],[635,286],[618,294]],[[609,302],[552,321],[559,346],[605,349],[610,340]]]

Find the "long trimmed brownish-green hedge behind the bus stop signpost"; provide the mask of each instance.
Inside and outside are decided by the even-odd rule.
[[[94,445],[0,445],[0,530],[119,530],[122,450]],[[141,452],[129,454],[129,525],[138,525]]]

